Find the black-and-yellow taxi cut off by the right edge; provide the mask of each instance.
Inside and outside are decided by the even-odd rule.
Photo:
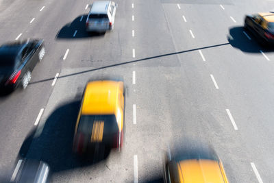
[[[274,13],[258,13],[245,16],[245,29],[251,31],[266,45],[274,44]]]

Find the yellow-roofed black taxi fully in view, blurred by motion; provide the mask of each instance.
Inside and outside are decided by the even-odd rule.
[[[124,105],[123,82],[88,82],[75,125],[73,151],[85,154],[95,145],[120,151],[123,147]]]

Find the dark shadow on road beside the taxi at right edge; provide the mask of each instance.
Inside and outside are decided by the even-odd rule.
[[[251,40],[247,38],[244,32],[247,36],[249,36],[249,38],[251,38]],[[230,36],[227,36],[227,40],[230,45],[240,49],[243,52],[260,53],[260,50],[264,52],[274,51],[274,48],[260,43],[260,40],[258,40],[258,38],[256,38],[256,36],[254,36],[251,32],[245,30],[244,27],[232,27],[229,29],[229,34]]]

